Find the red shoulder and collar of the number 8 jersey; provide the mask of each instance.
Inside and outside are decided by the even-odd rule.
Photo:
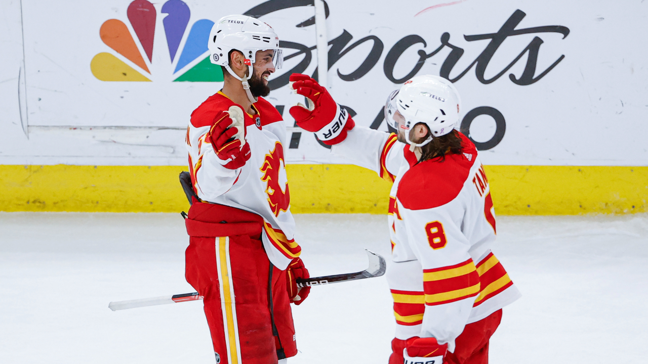
[[[459,133],[462,154],[446,155],[411,166],[400,179],[397,198],[406,209],[423,210],[443,206],[455,199],[477,159],[474,144]]]

